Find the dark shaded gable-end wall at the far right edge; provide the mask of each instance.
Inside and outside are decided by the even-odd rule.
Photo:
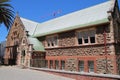
[[[117,1],[117,0],[116,0]],[[118,73],[120,74],[120,11],[118,7],[118,3],[115,4],[114,13],[112,16],[113,20],[113,30],[115,36],[115,53],[117,55],[117,69]]]

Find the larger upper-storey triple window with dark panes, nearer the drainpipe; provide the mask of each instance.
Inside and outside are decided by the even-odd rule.
[[[78,44],[95,43],[95,30],[78,32]]]

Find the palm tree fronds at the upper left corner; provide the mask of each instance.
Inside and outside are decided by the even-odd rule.
[[[0,0],[0,24],[3,23],[7,29],[10,29],[13,24],[14,11],[8,2],[10,2],[10,0]]]

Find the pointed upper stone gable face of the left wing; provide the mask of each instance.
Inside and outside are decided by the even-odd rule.
[[[6,46],[15,45],[15,41],[17,41],[17,43],[20,43],[23,35],[24,27],[19,17],[17,16],[7,36]]]

